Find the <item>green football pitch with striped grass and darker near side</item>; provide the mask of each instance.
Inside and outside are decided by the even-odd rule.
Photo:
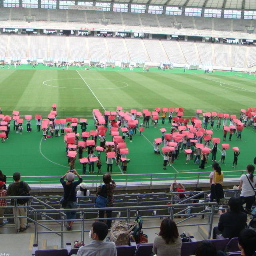
[[[123,110],[128,112],[130,109],[142,112],[143,109],[152,111],[156,107],[178,107],[184,108],[184,116],[188,118],[194,116],[199,108],[203,112],[236,114],[239,118],[241,108],[256,107],[255,84],[254,76],[238,72],[216,71],[213,74],[204,74],[201,70],[186,70],[184,73],[182,69],[163,72],[157,68],[142,72],[139,68],[129,71],[120,70],[118,67],[114,70],[84,70],[72,67],[70,70],[62,70],[40,65],[32,69],[31,66],[22,65],[17,69],[13,66],[10,70],[6,67],[0,69],[0,107],[5,115],[11,115],[13,110],[18,110],[20,116],[42,114],[47,118],[52,104],[56,103],[57,118],[88,118],[87,131],[95,130],[92,120],[93,108],[98,108],[103,114],[104,110],[116,110],[116,106],[122,106]],[[157,177],[158,173],[191,172],[192,178],[195,172],[200,172],[193,160],[185,164],[184,152],[180,152],[179,159],[173,166],[163,170],[163,157],[154,154],[152,143],[154,138],[161,137],[159,128],[164,127],[167,132],[170,131],[167,118],[166,121],[162,125],[159,120],[157,128],[150,126],[144,130],[142,136],[137,132],[132,142],[129,142],[128,138],[125,139],[129,148],[128,158],[131,159],[127,174],[142,174],[142,178],[143,174],[148,173],[156,174]],[[42,131],[36,131],[35,120],[32,120],[30,133],[26,132],[25,122],[22,135],[13,131],[12,122],[10,128],[9,139],[0,143],[0,169],[4,174],[12,176],[13,172],[20,171],[23,176],[61,176],[65,173],[68,164],[63,136],[42,141]],[[223,143],[223,132],[216,130],[216,122],[213,132],[212,137],[221,138]],[[244,170],[247,164],[252,163],[255,156],[255,138],[255,131],[250,127],[244,128],[242,141],[236,141],[235,135],[232,141],[226,141],[230,143],[230,149],[227,150],[226,164],[222,164],[222,170],[234,170],[234,146],[240,148],[236,170]],[[106,139],[112,139],[108,132]],[[221,146],[218,145],[218,148]],[[218,150],[218,160],[220,155]],[[83,156],[87,156],[87,152],[84,152]],[[104,173],[104,153],[101,158]],[[205,171],[210,172],[210,159],[206,166]],[[75,168],[81,172],[82,166],[78,160]],[[113,166],[113,174],[122,174],[122,170]]]

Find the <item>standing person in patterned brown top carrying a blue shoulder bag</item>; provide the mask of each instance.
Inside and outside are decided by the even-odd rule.
[[[114,182],[114,180],[112,180],[111,175],[109,173],[105,173],[103,175],[102,179],[103,179],[104,185],[106,186],[106,191],[107,191],[107,197],[108,197],[107,207],[112,207],[113,206],[113,193],[114,193],[114,189],[116,188],[116,183]],[[101,186],[98,186],[96,196],[98,196],[100,191],[101,191]],[[107,214],[107,218],[111,218],[112,210],[106,211],[106,214]],[[99,218],[103,218],[103,217],[104,217],[104,211],[99,211]],[[103,221],[103,220],[101,220],[101,221]],[[107,220],[108,228],[111,227],[111,223],[112,223],[112,220]]]

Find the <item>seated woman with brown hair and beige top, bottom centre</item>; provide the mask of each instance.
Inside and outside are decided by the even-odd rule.
[[[162,220],[160,232],[154,239],[152,252],[157,256],[180,256],[182,241],[176,223],[170,219]]]

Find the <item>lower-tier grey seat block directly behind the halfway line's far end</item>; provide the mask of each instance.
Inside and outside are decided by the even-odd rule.
[[[70,47],[70,58],[89,58],[87,53],[88,44],[86,44],[86,38],[70,36],[68,39],[70,46],[76,46]]]

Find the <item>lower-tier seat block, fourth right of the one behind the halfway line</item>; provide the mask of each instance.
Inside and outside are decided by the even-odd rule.
[[[160,40],[144,39],[143,41],[146,46],[150,60],[152,62],[161,62],[162,60],[168,60],[168,58],[166,57],[166,55],[164,54],[164,52],[162,50]]]

